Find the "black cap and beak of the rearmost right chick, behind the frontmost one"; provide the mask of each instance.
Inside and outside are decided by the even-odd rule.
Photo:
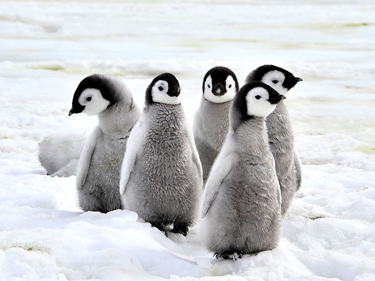
[[[250,72],[250,74],[248,75],[248,77],[245,80],[245,83],[249,83],[251,81],[261,81],[262,78],[268,72],[270,72],[272,70],[277,70],[277,71],[280,71],[281,73],[284,74],[285,80],[284,80],[282,85],[283,85],[284,88],[286,88],[288,90],[292,89],[295,86],[295,84],[297,84],[297,82],[302,81],[301,78],[294,77],[294,75],[291,72],[289,72],[288,70],[285,70],[284,68],[281,68],[281,67],[278,67],[278,66],[275,66],[275,65],[271,65],[271,64],[265,64],[265,65],[259,66],[257,69]]]

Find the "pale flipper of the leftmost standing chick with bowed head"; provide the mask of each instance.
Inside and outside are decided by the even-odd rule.
[[[96,126],[83,146],[80,161],[78,162],[76,188],[80,190],[86,181],[88,169],[90,168],[92,154],[94,153],[96,141],[101,134],[101,129]]]

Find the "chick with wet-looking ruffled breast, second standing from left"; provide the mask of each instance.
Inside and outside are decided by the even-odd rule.
[[[197,218],[202,166],[170,73],[152,80],[142,116],[130,134],[121,170],[124,207],[166,235],[187,235]]]

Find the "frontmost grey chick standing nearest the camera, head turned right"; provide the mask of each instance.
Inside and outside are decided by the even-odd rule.
[[[203,196],[203,240],[216,257],[231,258],[275,248],[281,195],[267,138],[266,117],[285,99],[254,81],[237,93],[229,130]]]

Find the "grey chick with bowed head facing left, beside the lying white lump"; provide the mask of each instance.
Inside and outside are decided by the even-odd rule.
[[[73,113],[98,115],[78,164],[76,187],[84,211],[103,213],[122,208],[120,171],[126,142],[141,112],[122,80],[94,74],[78,85]]]

